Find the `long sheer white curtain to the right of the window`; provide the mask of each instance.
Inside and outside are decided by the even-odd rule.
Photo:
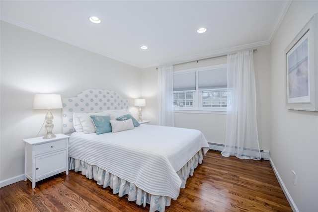
[[[225,157],[260,160],[253,50],[228,55]]]

